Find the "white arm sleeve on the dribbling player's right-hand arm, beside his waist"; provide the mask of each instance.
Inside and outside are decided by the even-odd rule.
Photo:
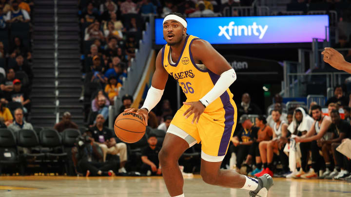
[[[200,102],[207,107],[222,95],[235,80],[236,74],[234,69],[223,72],[215,83],[215,86],[200,99]]]

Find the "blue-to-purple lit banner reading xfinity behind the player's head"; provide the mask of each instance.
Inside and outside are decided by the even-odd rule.
[[[312,42],[326,39],[328,15],[187,18],[187,33],[211,44]],[[155,19],[156,44],[163,39],[163,18]],[[327,37],[329,39],[329,35]]]

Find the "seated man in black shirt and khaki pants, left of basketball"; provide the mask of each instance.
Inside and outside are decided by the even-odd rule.
[[[96,125],[89,129],[92,140],[94,143],[98,143],[103,153],[103,161],[106,161],[106,155],[119,155],[120,166],[119,172],[126,172],[124,165],[127,162],[127,145],[125,143],[116,143],[115,138],[112,135],[112,131],[104,126],[105,119],[102,114],[98,114],[96,117]]]

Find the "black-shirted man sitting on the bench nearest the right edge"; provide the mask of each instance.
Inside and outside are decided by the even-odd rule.
[[[350,122],[341,120],[339,111],[336,109],[333,109],[331,111],[331,122],[332,123],[328,129],[328,132],[331,133],[331,139],[324,140],[323,138],[321,138],[319,142],[320,145],[322,146],[324,161],[326,162],[326,171],[319,178],[327,178],[327,177],[333,178],[339,174],[340,166],[338,166],[337,161],[335,162],[334,170],[331,171],[332,165],[331,165],[330,152],[332,152],[332,145],[334,146],[336,145],[333,143],[337,143],[339,145],[343,139],[350,136],[350,132],[351,132]],[[342,163],[340,164],[342,165]],[[343,173],[338,178],[345,178],[347,177],[347,175],[348,173]]]

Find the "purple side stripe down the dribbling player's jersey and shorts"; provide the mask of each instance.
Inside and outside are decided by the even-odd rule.
[[[210,75],[210,78],[215,85],[219,79],[219,75],[215,74],[211,71],[208,72]],[[223,108],[225,111],[224,114],[224,132],[222,135],[221,142],[219,144],[219,149],[218,149],[218,156],[224,156],[227,151],[228,144],[230,142],[230,138],[232,137],[232,130],[234,126],[234,107],[230,102],[229,94],[227,91],[225,91],[222,95],[219,96],[219,98],[222,101]]]

